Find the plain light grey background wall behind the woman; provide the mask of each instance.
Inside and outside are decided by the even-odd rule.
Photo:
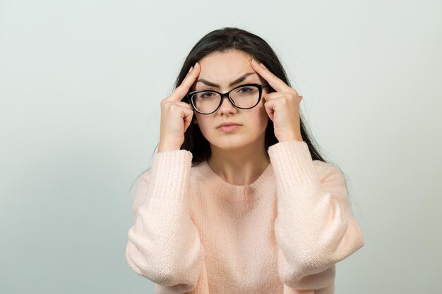
[[[275,49],[365,246],[336,293],[442,277],[441,1],[0,1],[0,293],[153,293],[124,259],[160,100],[225,26]]]

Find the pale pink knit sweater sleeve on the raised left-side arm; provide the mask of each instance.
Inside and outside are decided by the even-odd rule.
[[[205,252],[189,209],[191,159],[187,150],[155,154],[133,200],[126,260],[161,293],[193,290],[203,266]]]

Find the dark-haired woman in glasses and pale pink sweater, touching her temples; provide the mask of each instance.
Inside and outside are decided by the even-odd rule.
[[[334,293],[335,264],[364,238],[273,49],[215,30],[176,85],[133,201],[131,269],[156,293]]]

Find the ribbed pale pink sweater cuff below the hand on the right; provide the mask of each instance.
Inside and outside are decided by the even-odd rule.
[[[288,189],[306,183],[321,183],[304,141],[278,142],[268,147],[277,185]]]

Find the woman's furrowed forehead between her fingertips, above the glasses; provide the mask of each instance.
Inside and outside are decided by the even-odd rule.
[[[252,75],[247,77],[247,80],[256,79],[258,73],[251,67],[251,59],[252,57],[249,54],[239,50],[208,54],[198,61],[201,65],[201,71],[192,88],[207,87],[202,82],[196,82],[198,79],[208,80],[225,88],[229,87],[232,81],[237,80],[244,73],[253,72]]]

